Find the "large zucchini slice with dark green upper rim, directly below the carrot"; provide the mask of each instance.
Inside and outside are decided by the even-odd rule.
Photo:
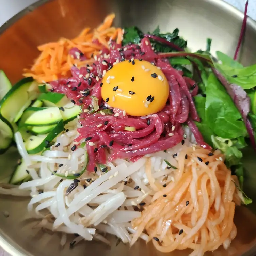
[[[32,77],[23,78],[0,101],[0,114],[11,124],[16,123],[38,93],[38,83]]]

